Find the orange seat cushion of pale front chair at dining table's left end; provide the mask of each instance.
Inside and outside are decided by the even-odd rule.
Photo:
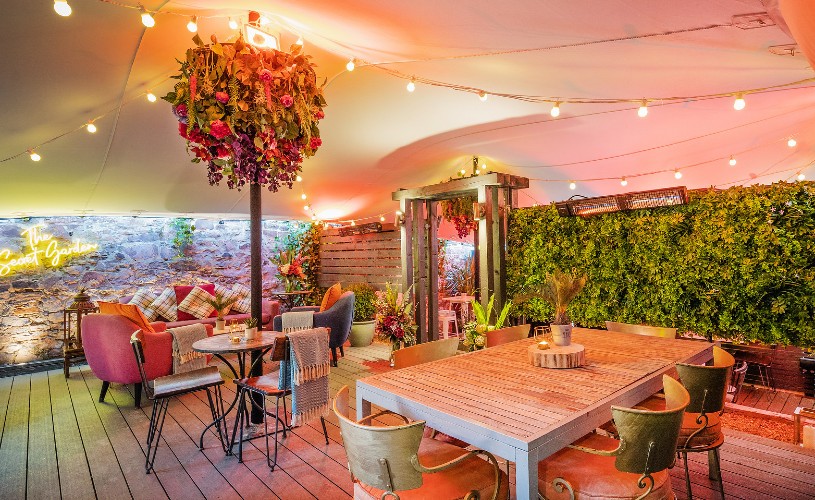
[[[425,467],[441,465],[467,453],[458,446],[454,446],[435,439],[422,439],[419,446],[419,463]],[[500,471],[501,488],[498,491],[500,499],[506,498],[508,478],[506,472]],[[495,470],[491,463],[479,457],[471,457],[463,463],[450,469],[424,474],[423,484],[419,488],[399,491],[402,500],[447,500],[459,499],[472,490],[478,490],[481,498],[492,498],[495,489]],[[354,483],[354,498],[364,500],[379,500],[383,491],[359,482]]]

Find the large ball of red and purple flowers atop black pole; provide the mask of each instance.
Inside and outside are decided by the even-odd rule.
[[[163,97],[173,105],[178,133],[207,165],[209,183],[247,183],[277,191],[292,187],[304,158],[322,145],[326,105],[310,56],[234,43],[196,46],[180,61],[179,82]]]

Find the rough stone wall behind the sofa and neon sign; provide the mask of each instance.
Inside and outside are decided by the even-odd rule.
[[[62,356],[62,309],[79,286],[94,301],[112,301],[140,286],[215,282],[249,285],[249,221],[197,219],[192,243],[173,245],[171,218],[48,217],[0,220],[0,249],[27,253],[26,229],[44,224],[62,246],[77,239],[96,252],[68,258],[59,267],[21,268],[0,276],[0,365]],[[275,288],[268,261],[298,223],[263,223],[264,290]],[[0,261],[8,260],[0,255]]]

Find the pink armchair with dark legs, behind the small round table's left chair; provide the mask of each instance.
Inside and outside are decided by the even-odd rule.
[[[144,332],[144,365],[147,380],[169,375],[173,372],[173,336],[160,321],[151,323],[158,333]],[[212,336],[212,325],[204,325],[207,335]],[[99,401],[111,382],[135,384],[136,406],[141,404],[141,375],[130,345],[130,336],[139,328],[124,316],[115,314],[88,314],[82,318],[82,346],[91,371],[102,381]]]

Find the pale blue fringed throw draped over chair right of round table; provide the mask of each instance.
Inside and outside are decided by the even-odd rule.
[[[287,335],[289,361],[280,363],[280,386],[291,388],[291,424],[298,426],[330,409],[328,329],[295,330]]]

